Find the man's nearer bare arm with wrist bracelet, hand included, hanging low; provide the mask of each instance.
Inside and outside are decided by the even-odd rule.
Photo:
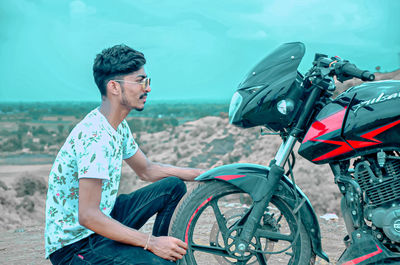
[[[79,223],[93,232],[132,246],[145,247],[148,236],[125,226],[100,211],[101,179],[79,180]],[[148,250],[155,255],[176,261],[186,254],[187,245],[173,237],[151,237]]]

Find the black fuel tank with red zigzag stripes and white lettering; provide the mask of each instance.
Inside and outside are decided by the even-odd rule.
[[[400,81],[354,86],[311,123],[299,154],[315,164],[378,150],[400,150]]]

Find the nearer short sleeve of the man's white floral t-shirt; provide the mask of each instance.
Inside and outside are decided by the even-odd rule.
[[[79,138],[79,134],[78,134]],[[78,178],[96,178],[109,180],[110,161],[107,150],[107,139],[101,135],[82,135],[76,144],[76,161]]]

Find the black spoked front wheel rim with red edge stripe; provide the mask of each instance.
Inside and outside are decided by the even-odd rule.
[[[220,265],[229,264],[292,264],[299,255],[299,244],[292,244],[297,229],[296,218],[289,206],[273,197],[245,256],[233,254],[234,238],[240,233],[239,220],[251,207],[248,194],[225,191],[205,200],[193,213],[186,231],[189,250],[188,264],[206,265],[210,260]],[[236,228],[233,229],[233,228]],[[296,240],[296,243],[298,240]],[[290,247],[291,246],[291,247]],[[280,254],[260,253],[279,252]],[[258,251],[258,252],[257,252]],[[215,264],[215,263],[212,263]]]

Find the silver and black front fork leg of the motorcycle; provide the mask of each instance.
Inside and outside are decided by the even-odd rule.
[[[284,165],[296,144],[296,140],[296,137],[290,135],[287,140],[281,144],[274,160],[271,161],[271,170],[269,171],[266,184],[258,187],[258,189],[262,189],[261,191],[265,193],[265,195],[260,200],[254,201],[253,208],[236,241],[236,249],[240,255],[244,255],[248,249],[261,217],[264,214],[265,206],[271,201],[272,196],[279,186],[278,183],[285,172]]]

